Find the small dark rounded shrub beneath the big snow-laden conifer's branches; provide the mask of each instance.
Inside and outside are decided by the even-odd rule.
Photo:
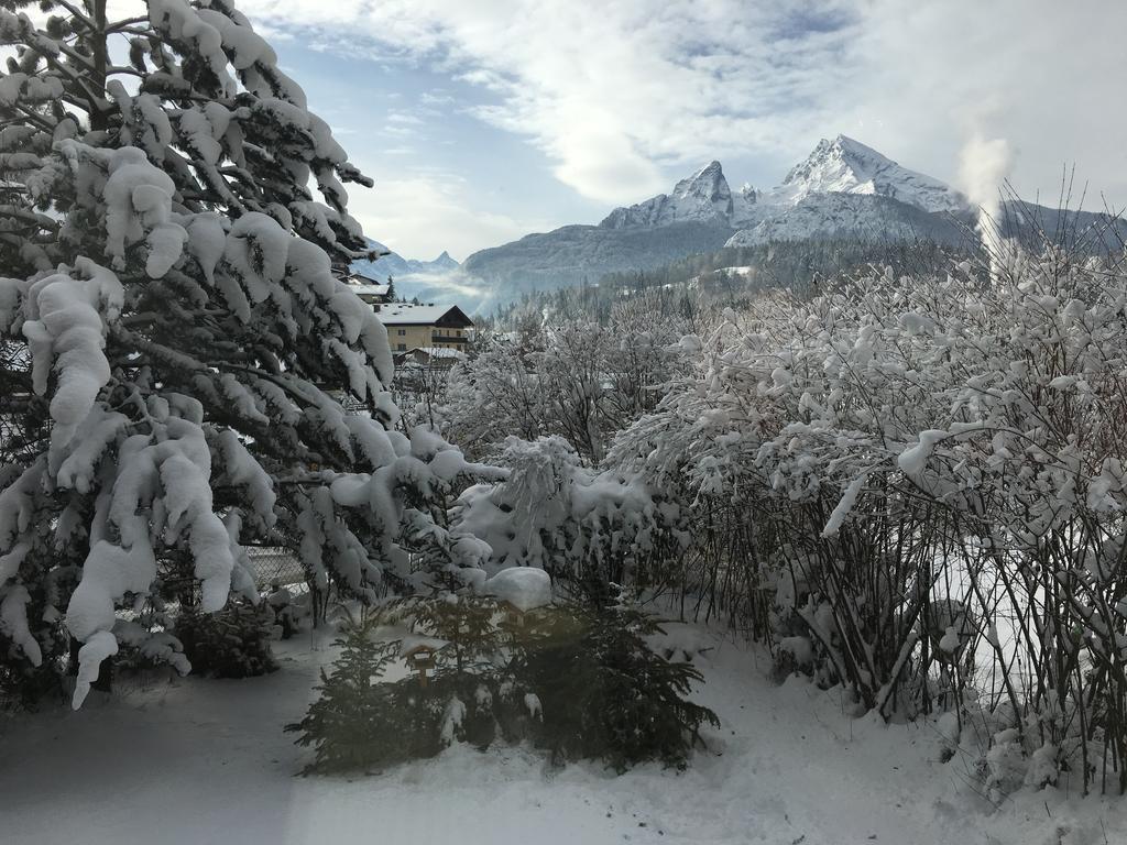
[[[197,675],[247,678],[277,669],[270,651],[274,613],[268,605],[232,598],[215,613],[185,610],[172,634]]]

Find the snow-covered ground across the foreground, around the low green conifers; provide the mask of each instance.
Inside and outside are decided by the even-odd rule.
[[[850,719],[836,693],[774,686],[762,652],[720,640],[698,659],[722,729],[685,772],[552,771],[523,748],[455,746],[384,773],[300,777],[304,753],[282,726],[332,652],[308,637],[277,650],[282,669],[265,678],[134,684],[79,712],[0,721],[0,842],[1127,842],[1122,801],[1047,790],[994,808],[967,755],[938,762],[932,727]]]

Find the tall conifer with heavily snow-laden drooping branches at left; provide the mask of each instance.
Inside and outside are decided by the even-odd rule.
[[[0,2],[0,662],[59,667],[64,624],[79,706],[115,608],[166,570],[204,612],[252,593],[242,543],[360,596],[408,550],[479,555],[438,516],[472,468],[393,430],[387,333],[332,274],[371,181],[269,45],[230,0],[27,6]]]

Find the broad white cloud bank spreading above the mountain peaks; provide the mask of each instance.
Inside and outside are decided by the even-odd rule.
[[[1127,199],[1117,106],[1127,5],[1100,0],[242,0],[272,24],[358,35],[499,95],[476,114],[527,136],[607,204],[663,168],[798,158],[845,132],[955,179],[975,134],[1008,139],[1032,190],[1079,162]]]

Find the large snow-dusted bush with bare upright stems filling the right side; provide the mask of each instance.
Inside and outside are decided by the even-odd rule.
[[[1051,243],[767,296],[685,339],[607,465],[685,510],[685,592],[784,662],[886,715],[975,687],[1021,755],[1127,788],[1125,301],[1121,258]]]

